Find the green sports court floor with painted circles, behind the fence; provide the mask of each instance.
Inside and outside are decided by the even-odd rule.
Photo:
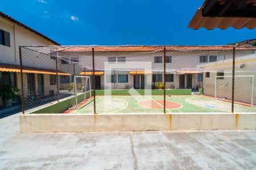
[[[80,103],[77,109],[69,113],[93,113],[93,100]],[[163,96],[96,96],[96,113],[163,113]],[[211,99],[202,95],[166,96],[166,112],[230,112],[231,103]],[[255,108],[235,104],[234,111],[256,112]]]

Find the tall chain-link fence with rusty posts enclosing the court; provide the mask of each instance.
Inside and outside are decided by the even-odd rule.
[[[255,49],[21,46],[23,113],[255,112]]]

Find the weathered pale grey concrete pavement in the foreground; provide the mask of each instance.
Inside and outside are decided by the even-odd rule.
[[[256,131],[20,134],[0,119],[0,169],[256,169]]]

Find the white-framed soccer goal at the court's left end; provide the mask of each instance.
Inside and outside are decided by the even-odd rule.
[[[92,100],[92,87],[90,76],[74,76],[75,107],[79,108],[87,100]]]

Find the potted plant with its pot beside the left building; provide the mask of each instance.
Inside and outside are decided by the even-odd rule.
[[[13,105],[13,98],[19,89],[14,86],[3,85],[0,86],[0,96],[2,97],[3,105],[9,107]]]

